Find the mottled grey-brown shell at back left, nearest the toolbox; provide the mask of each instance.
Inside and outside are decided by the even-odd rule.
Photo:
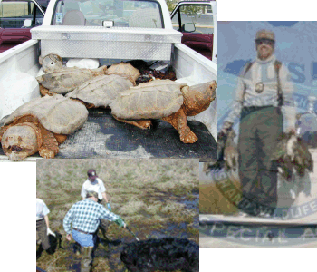
[[[72,92],[80,84],[91,78],[104,74],[106,67],[98,69],[85,69],[77,67],[65,67],[53,73],[45,73],[36,77],[36,80],[50,92],[65,94]]]

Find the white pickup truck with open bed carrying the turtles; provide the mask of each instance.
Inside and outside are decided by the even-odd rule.
[[[185,44],[180,43],[170,45],[170,58],[165,60],[165,63],[170,64],[176,72],[178,82],[185,82],[188,85],[207,83],[216,80],[217,77],[216,2],[202,2],[202,5],[207,5],[206,12],[213,15],[213,60],[207,59]],[[33,28],[31,32],[33,33],[34,30],[41,27],[57,26],[58,28],[58,25],[62,25],[66,21],[62,18],[67,13],[67,9],[68,11],[77,11],[77,14],[83,16],[84,23],[78,27],[85,34],[90,34],[91,31],[96,29],[104,34],[107,29],[116,31],[116,28],[120,31],[124,29],[123,32],[125,33],[130,31],[131,34],[146,31],[147,27],[149,27],[150,32],[175,31],[173,30],[168,6],[164,0],[51,0],[43,18],[43,25]],[[144,16],[134,16],[134,20],[139,18],[140,23],[134,23],[131,27],[131,15],[136,11],[146,11],[147,9],[155,13],[155,19],[152,18],[154,26],[144,23],[147,22],[147,18]],[[146,15],[149,15],[149,13]],[[66,35],[66,37],[64,35],[63,38],[68,39],[69,35]],[[145,38],[149,39],[150,44],[151,36],[145,34]],[[111,36],[111,39],[113,42],[113,36]],[[96,41],[93,42],[96,43]],[[45,41],[46,49],[47,46],[53,47],[50,45],[49,40]],[[89,45],[86,43],[86,46],[89,47]],[[39,84],[35,77],[41,68],[39,56],[41,54],[43,56],[43,50],[43,41],[35,39],[33,36],[32,40],[0,53],[0,127],[1,119],[14,112],[25,102],[40,96]],[[93,51],[93,48],[87,50]],[[67,48],[66,51],[69,52],[70,48]],[[118,63],[121,60],[127,61],[127,57],[111,59],[109,56],[102,57],[100,53],[98,54],[94,57],[98,58],[102,64]],[[62,55],[62,58],[64,59],[65,55]],[[136,59],[136,57],[133,56],[130,59]],[[162,60],[158,59],[157,61]],[[188,120],[192,120],[188,122],[188,125],[191,126],[193,131],[196,130],[198,137],[198,141],[194,144],[180,142],[177,131],[173,131],[171,126],[164,121],[159,121],[154,129],[141,131],[136,127],[113,120],[110,117],[110,112],[106,110],[92,110],[82,129],[76,131],[62,143],[56,158],[155,157],[216,160],[216,100],[211,103],[205,112],[201,112],[192,118],[189,117]],[[173,140],[171,141],[171,139]],[[5,154],[1,152],[2,150],[0,150],[0,158],[7,160]]]

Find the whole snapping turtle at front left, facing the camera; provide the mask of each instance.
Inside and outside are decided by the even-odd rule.
[[[39,151],[52,159],[67,135],[82,127],[88,111],[81,102],[60,94],[24,103],[5,118],[0,141],[9,160],[24,160]]]

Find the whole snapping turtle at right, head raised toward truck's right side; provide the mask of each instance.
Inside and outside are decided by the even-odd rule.
[[[170,80],[140,83],[121,92],[110,103],[111,113],[118,121],[128,122],[141,129],[151,125],[151,121],[144,119],[168,121],[178,131],[180,141],[193,143],[197,141],[197,136],[187,126],[187,116],[205,111],[216,98],[216,87],[216,81],[191,87],[187,83]]]

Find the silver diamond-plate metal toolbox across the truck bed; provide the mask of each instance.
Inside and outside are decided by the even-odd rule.
[[[169,61],[182,34],[173,29],[42,25],[31,30],[41,40],[41,55]]]

